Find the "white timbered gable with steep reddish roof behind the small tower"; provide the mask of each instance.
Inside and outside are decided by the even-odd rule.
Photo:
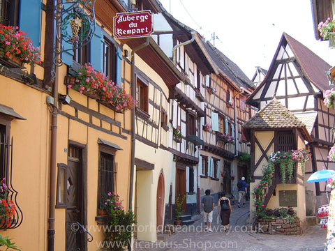
[[[321,60],[315,59],[313,52],[284,33],[267,76],[247,102],[262,108],[276,97],[292,112],[313,110],[315,95],[320,94],[320,86],[325,84],[322,80],[325,71],[322,69],[328,67]],[[322,66],[318,68],[314,62]],[[310,70],[313,66],[314,69]]]

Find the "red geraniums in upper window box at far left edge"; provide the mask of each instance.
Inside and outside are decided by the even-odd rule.
[[[39,49],[17,26],[0,24],[0,56],[16,67],[21,67],[22,63],[40,63]]]

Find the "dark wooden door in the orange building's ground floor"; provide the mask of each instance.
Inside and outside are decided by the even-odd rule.
[[[78,149],[80,150],[80,149]],[[66,251],[84,250],[82,225],[82,168],[80,154],[68,158],[66,172]]]

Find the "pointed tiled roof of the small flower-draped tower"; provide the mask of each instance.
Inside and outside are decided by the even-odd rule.
[[[246,121],[244,128],[304,128],[302,123],[281,102],[274,99]]]

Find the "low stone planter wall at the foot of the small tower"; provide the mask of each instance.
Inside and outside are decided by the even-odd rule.
[[[255,221],[255,229],[258,233],[263,234],[283,234],[283,235],[297,235],[301,233],[300,220],[296,218],[290,224],[287,219],[257,219]]]

